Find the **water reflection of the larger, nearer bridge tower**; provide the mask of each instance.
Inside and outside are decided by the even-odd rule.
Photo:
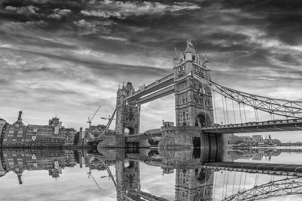
[[[212,200],[213,178],[210,169],[177,169],[175,201]]]

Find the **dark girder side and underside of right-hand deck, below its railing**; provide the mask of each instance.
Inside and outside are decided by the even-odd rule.
[[[205,128],[201,129],[204,133],[261,133],[261,132],[280,132],[280,131],[302,131],[302,122],[287,124],[267,124],[252,126],[232,126],[227,125],[224,128]]]

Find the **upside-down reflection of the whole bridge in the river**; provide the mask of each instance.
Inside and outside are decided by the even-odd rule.
[[[218,190],[216,189],[216,177],[220,171],[224,172],[223,187],[225,188],[225,192],[222,194],[222,200],[255,200],[302,193],[302,165],[222,162],[221,157],[218,157],[218,161],[210,159],[213,157],[212,155],[205,157],[206,160],[203,160],[204,158],[202,157],[187,157],[187,159],[182,161],[181,154],[179,153],[184,154],[184,156],[191,155],[192,153],[188,154],[190,151],[177,152],[176,155],[179,159],[171,158],[171,154],[168,154],[169,156],[163,155],[162,158],[154,158],[143,153],[125,153],[124,157],[113,158],[112,156],[120,157],[123,154],[112,154],[112,151],[110,152],[110,156],[108,155],[109,157],[106,156],[108,152],[94,157],[102,161],[102,164],[112,165],[114,163],[116,178],[113,179],[116,179],[117,200],[167,200],[140,190],[140,162],[147,165],[160,166],[163,172],[167,169],[176,169],[175,201],[215,200],[215,190]],[[120,150],[117,150],[117,152],[120,152]],[[195,165],[187,165],[192,164],[192,161]],[[235,172],[235,175],[236,172],[239,173],[240,182],[244,186],[242,188],[240,187],[241,184],[239,184],[239,188],[234,191],[235,180],[239,179],[234,178],[233,193],[230,194],[229,192],[229,196],[226,193],[227,180],[229,179],[228,177],[225,178],[226,172],[228,172],[228,175],[229,172],[233,172],[233,174]],[[112,175],[112,172],[108,173]],[[259,175],[261,174],[267,177],[270,176],[271,180],[268,183],[258,183]],[[250,189],[245,189],[247,187],[245,184],[247,175],[254,175],[255,177],[255,184]],[[275,179],[275,176],[281,177]],[[232,179],[230,178],[230,180]]]

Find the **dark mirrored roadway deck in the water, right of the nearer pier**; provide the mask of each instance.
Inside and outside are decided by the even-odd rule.
[[[222,170],[230,170],[230,171],[242,171],[243,169],[249,169],[251,170],[250,172],[252,173],[255,172],[255,173],[276,174],[276,172],[285,172],[285,173],[292,173],[292,174],[299,173],[302,176],[302,164],[294,165],[294,164],[273,164],[273,163],[216,162],[216,163],[204,163],[202,165],[206,168],[219,167]]]

